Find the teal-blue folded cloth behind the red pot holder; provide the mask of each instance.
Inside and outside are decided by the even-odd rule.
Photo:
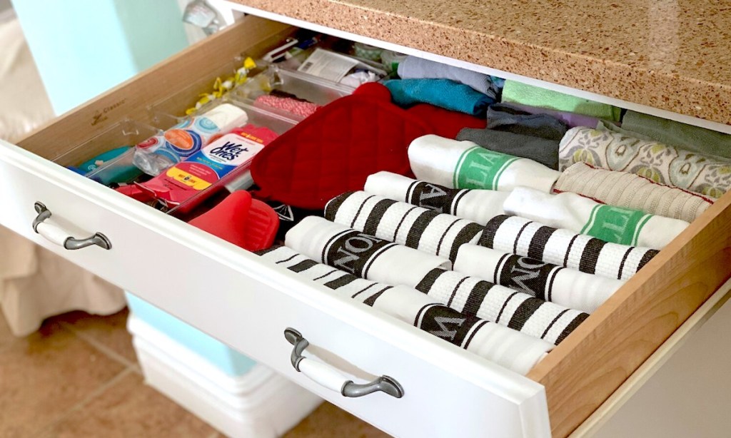
[[[401,79],[383,82],[391,92],[391,100],[399,107],[413,104],[432,104],[447,110],[469,115],[485,115],[493,104],[485,94],[468,85],[448,79]]]

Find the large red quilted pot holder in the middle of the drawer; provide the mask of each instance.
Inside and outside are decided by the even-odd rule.
[[[363,190],[366,177],[387,170],[411,176],[406,150],[429,126],[367,84],[317,110],[254,157],[257,197],[319,210],[333,197]],[[386,90],[387,91],[387,90]]]

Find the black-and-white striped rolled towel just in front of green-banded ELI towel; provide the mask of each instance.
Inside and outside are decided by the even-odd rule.
[[[479,245],[618,280],[632,277],[658,253],[507,215],[485,226]]]

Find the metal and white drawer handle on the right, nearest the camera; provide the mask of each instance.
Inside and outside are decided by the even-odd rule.
[[[284,330],[284,337],[295,346],[292,348],[292,366],[327,389],[337,391],[346,397],[362,397],[376,391],[383,391],[397,399],[404,396],[404,388],[401,388],[392,377],[381,376],[371,383],[353,383],[332,366],[302,356],[310,343],[294,328]]]

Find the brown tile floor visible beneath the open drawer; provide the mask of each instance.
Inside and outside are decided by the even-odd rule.
[[[221,437],[145,385],[126,318],[70,312],[15,338],[0,313],[0,437]],[[325,403],[286,437],[387,435]]]

